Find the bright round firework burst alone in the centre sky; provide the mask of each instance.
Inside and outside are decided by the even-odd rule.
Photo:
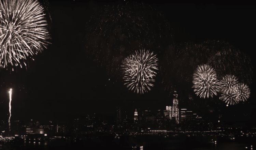
[[[156,76],[156,70],[158,70],[158,59],[153,52],[145,49],[136,51],[135,54],[125,58],[122,63],[123,79],[129,90],[137,93],[151,90],[155,81],[153,77]]]

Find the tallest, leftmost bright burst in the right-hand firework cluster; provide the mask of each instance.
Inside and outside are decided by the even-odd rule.
[[[219,81],[215,70],[207,64],[199,65],[193,74],[193,88],[201,98],[217,95]]]

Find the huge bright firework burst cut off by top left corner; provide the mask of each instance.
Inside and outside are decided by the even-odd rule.
[[[44,9],[37,0],[0,0],[0,63],[25,64],[49,38]]]

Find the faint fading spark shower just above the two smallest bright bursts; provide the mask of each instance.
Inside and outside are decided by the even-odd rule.
[[[247,85],[252,83],[253,66],[249,56],[226,42],[214,41],[211,45],[216,52],[208,59],[208,64],[214,67],[218,77],[232,74]]]

